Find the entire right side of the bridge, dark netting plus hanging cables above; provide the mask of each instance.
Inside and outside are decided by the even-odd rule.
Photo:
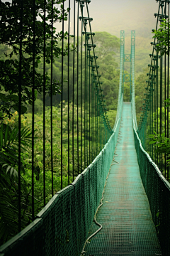
[[[162,133],[164,136],[166,134],[166,138],[169,138],[169,108],[164,107],[164,100],[169,98],[169,15],[166,16],[167,13],[169,14],[169,1],[159,1],[159,11],[158,14],[155,14],[157,17],[156,31],[160,33],[164,31],[164,29],[158,29],[159,21],[168,21],[165,27],[166,36],[164,37],[168,43],[164,46],[161,40],[157,41],[157,38],[152,42],[153,52],[150,55],[152,60],[147,74],[149,79],[147,80],[144,107],[138,127],[135,111],[135,87],[132,90],[132,118],[137,161],[162,255],[165,256],[168,256],[170,251],[170,185],[169,166],[166,164],[166,160],[169,158],[168,154],[157,152],[157,145],[149,144],[149,142],[154,138],[156,142],[158,137],[162,137]],[[163,53],[164,50],[165,53]],[[132,65],[135,67],[133,63]],[[133,85],[135,85],[134,78]],[[154,137],[149,138],[149,134],[154,134]],[[161,142],[164,142],[163,139]]]

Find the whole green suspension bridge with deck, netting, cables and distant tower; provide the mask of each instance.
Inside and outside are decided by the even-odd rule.
[[[57,4],[61,4],[58,9]],[[169,142],[169,106],[164,107],[169,98],[169,1],[158,1],[158,13],[154,14],[156,31],[160,23],[166,23],[167,43],[160,46],[162,41],[157,37],[152,42],[138,125],[135,31],[131,32],[130,53],[125,53],[125,31],[120,32],[118,108],[113,129],[97,65],[89,4],[89,0],[40,1],[39,5],[33,1],[29,9],[27,1],[19,1],[19,26],[16,28],[13,16],[8,16],[8,26],[1,32],[1,43],[13,51],[10,58],[6,53],[8,59],[1,60],[5,77],[1,85],[8,94],[2,90],[0,95],[0,256],[170,253],[169,155],[157,150],[153,137],[148,139],[157,132],[162,143],[163,139]],[[6,11],[15,12],[15,6],[4,3],[2,7],[1,23],[6,24]],[[62,24],[60,33],[56,33],[57,21]],[[16,29],[12,41],[11,28]],[[17,58],[11,58],[13,54]],[[61,81],[55,78],[55,58],[60,58],[57,72]],[[125,71],[125,62],[130,64],[130,73]],[[8,87],[9,81],[12,87]],[[130,84],[129,102],[123,101],[125,82]],[[40,153],[36,148],[40,134],[37,94],[42,95],[43,103]],[[60,102],[60,118],[55,114],[55,100]],[[23,114],[29,117],[26,104],[31,105],[30,127],[23,122]],[[7,117],[13,118],[12,110],[18,111],[14,127],[6,124]],[[56,122],[60,122],[58,147]]]

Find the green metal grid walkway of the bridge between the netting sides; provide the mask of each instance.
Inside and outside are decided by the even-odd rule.
[[[130,102],[123,104],[122,119],[115,158],[119,164],[111,167],[96,215],[103,229],[86,245],[85,255],[162,255],[137,164]],[[97,229],[93,223],[89,235]]]

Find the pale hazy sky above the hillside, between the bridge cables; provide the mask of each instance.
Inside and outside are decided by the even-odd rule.
[[[126,35],[131,30],[136,31],[136,36],[149,35],[156,26],[154,13],[158,6],[155,0],[91,0],[91,26],[93,31],[107,31],[118,37],[120,30],[125,30]]]

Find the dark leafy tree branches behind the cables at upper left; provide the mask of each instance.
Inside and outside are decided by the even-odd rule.
[[[61,4],[60,7],[54,7],[53,14],[52,2],[53,5]],[[57,33],[53,25],[62,19],[67,21],[69,9],[64,10],[60,0],[47,1],[46,18],[43,15],[44,1],[36,1],[34,9],[32,0],[13,0],[12,4],[0,1],[0,43],[4,50],[4,56],[0,60],[0,120],[4,118],[4,112],[11,117],[12,109],[18,111],[19,96],[21,114],[24,114],[27,111],[26,105],[33,104],[37,92],[44,90],[49,95],[60,93],[60,82],[52,80],[51,91],[49,73],[40,73],[36,68],[42,59],[50,64],[60,55],[68,54],[68,46],[62,49],[58,44],[58,40],[67,38],[67,32]],[[35,37],[33,31],[36,31]],[[33,86],[35,95],[32,92]],[[21,95],[18,95],[19,87]]]

